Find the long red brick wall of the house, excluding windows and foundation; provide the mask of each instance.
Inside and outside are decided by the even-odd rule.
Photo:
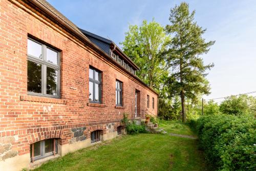
[[[60,99],[27,95],[28,35],[61,50]],[[87,105],[89,66],[102,71],[103,108]],[[115,109],[116,79],[123,82],[124,109]],[[40,12],[0,0],[0,137],[16,135],[12,149],[19,155],[29,153],[29,144],[46,137],[68,143],[73,127],[86,126],[88,131],[95,125],[119,124],[123,113],[133,117],[136,89],[140,91],[140,109],[146,110],[146,95],[150,95],[148,110],[156,114],[157,95],[131,75]]]

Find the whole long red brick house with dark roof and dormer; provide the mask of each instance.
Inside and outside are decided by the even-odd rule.
[[[158,94],[116,44],[44,0],[0,0],[0,168],[19,170],[108,140],[157,115]]]

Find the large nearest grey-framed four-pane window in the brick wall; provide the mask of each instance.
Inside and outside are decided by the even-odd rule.
[[[28,38],[28,94],[59,97],[59,52]]]

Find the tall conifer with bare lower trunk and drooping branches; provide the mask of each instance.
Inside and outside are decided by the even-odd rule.
[[[193,99],[198,94],[209,94],[209,82],[205,72],[213,63],[204,65],[199,55],[209,51],[215,41],[205,42],[205,29],[194,22],[195,11],[189,13],[188,4],[181,3],[170,10],[166,32],[172,35],[168,42],[168,66],[172,71],[168,79],[171,94],[179,94],[182,106],[182,121],[186,122],[185,98]]]

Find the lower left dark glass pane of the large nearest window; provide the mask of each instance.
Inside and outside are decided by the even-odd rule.
[[[28,91],[41,93],[41,65],[28,60]]]

